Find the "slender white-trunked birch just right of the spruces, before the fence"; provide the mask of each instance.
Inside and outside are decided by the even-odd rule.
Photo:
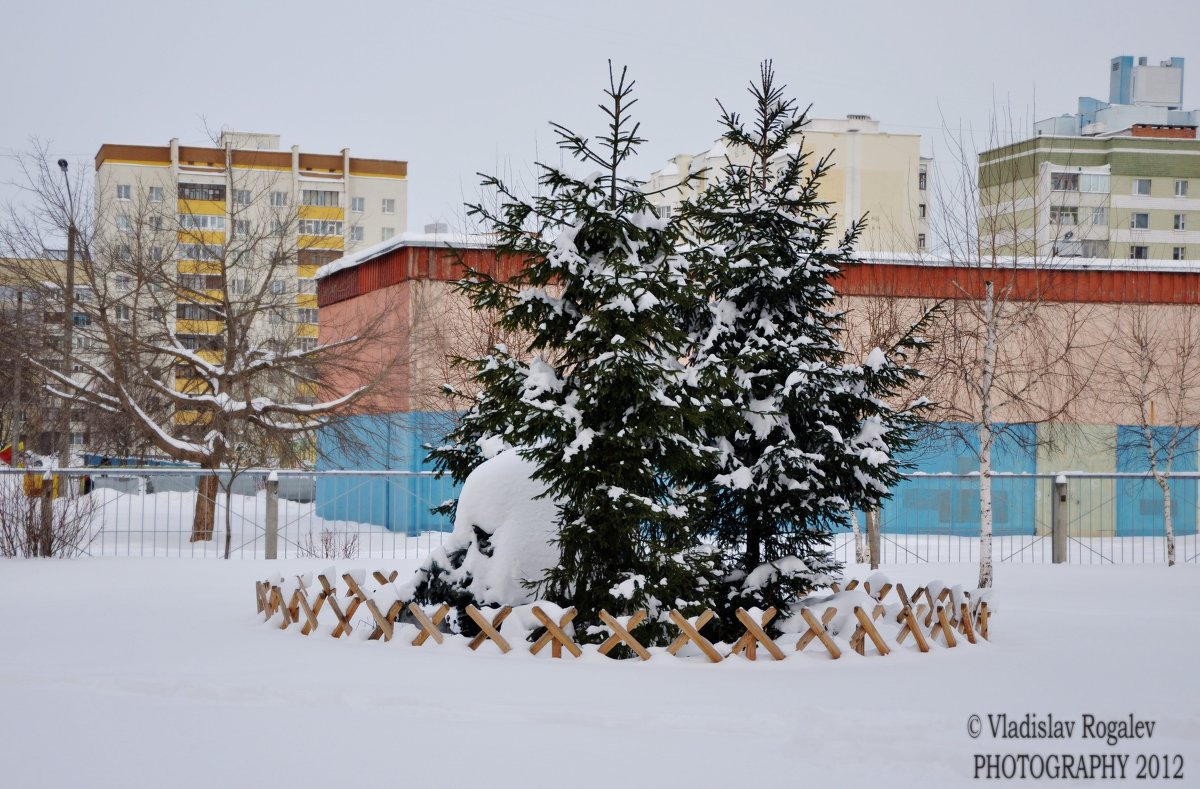
[[[1013,135],[1009,134],[1009,138]],[[992,477],[997,440],[1015,424],[1068,420],[1094,366],[1085,331],[1091,307],[1056,289],[1066,263],[1060,224],[1045,236],[1051,199],[1039,174],[1001,163],[977,169],[962,135],[948,135],[956,179],[937,179],[934,231],[941,253],[965,271],[947,311],[940,385],[942,418],[978,440],[979,586],[992,584]],[[1000,126],[990,138],[1001,140]],[[994,145],[992,147],[998,147]],[[944,158],[944,157],[943,157]],[[966,438],[966,436],[964,436]],[[966,441],[964,441],[966,442]]]

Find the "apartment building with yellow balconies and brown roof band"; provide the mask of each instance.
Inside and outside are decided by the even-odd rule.
[[[311,349],[317,269],[404,233],[407,171],[406,162],[348,149],[282,150],[277,134],[227,132],[215,146],[106,144],[96,153],[92,265],[106,261],[101,287],[118,319],[150,305],[144,324],[200,356],[220,357],[222,309],[238,302],[253,307],[240,318],[247,332],[280,350]],[[222,300],[232,306],[218,309]],[[88,353],[86,331],[77,342]],[[164,374],[176,391],[198,391],[186,366]],[[311,399],[316,390],[286,394]],[[194,417],[180,410],[175,422]]]

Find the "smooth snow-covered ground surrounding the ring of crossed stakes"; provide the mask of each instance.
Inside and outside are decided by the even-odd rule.
[[[329,564],[0,561],[2,784],[928,788],[966,785],[988,753],[1128,754],[1129,781],[1138,754],[1182,754],[1174,785],[1200,782],[1196,565],[1001,565],[988,644],[708,665],[262,624],[256,579]],[[415,560],[354,564],[403,577]],[[910,588],[974,578],[884,571]],[[1116,746],[1079,725],[996,740],[1000,713],[1156,725]]]

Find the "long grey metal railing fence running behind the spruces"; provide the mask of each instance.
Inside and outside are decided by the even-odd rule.
[[[194,469],[0,469],[0,555],[20,555],[40,528],[41,477],[49,471],[53,523],[61,530],[54,555],[266,558],[271,501],[275,502],[276,558],[419,558],[442,544],[450,520],[430,510],[456,495],[455,487],[428,472],[270,470],[236,475],[227,499],[214,501],[212,540],[193,541],[197,502]],[[1162,493],[1144,474],[1061,475],[1067,501],[1060,511],[1062,555],[1054,548],[1056,475],[994,478],[994,550],[997,562],[1078,564],[1165,562]],[[1196,472],[1170,481],[1178,562],[1200,559]],[[31,484],[32,481],[32,484]],[[86,492],[86,493],[85,493]],[[978,560],[978,475],[906,477],[880,513],[878,564],[974,562]],[[227,517],[228,516],[228,517]],[[858,523],[865,518],[859,513]],[[860,535],[865,543],[865,534]],[[833,552],[858,561],[856,536],[834,534]]]

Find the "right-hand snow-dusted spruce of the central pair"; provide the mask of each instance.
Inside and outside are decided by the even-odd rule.
[[[734,412],[736,427],[712,436],[721,450],[709,523],[726,573],[726,637],[738,632],[737,607],[775,606],[786,616],[788,602],[840,568],[830,529],[852,508],[876,506],[898,478],[896,452],[917,416],[888,403],[918,375],[906,360],[922,344],[918,325],[860,365],[846,357],[830,281],[853,260],[862,223],[830,239],[834,217],[817,198],[829,158],[810,162],[805,114],[769,61],[750,94],[749,126],[721,107],[728,163],[684,207],[692,271],[709,291],[692,365],[724,381],[716,400]]]

